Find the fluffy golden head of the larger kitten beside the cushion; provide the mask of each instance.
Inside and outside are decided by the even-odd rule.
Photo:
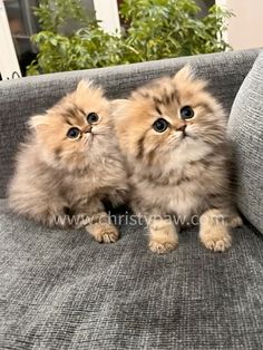
[[[221,106],[193,79],[188,67],[120,100],[116,128],[126,154],[148,164],[198,161],[225,137]]]

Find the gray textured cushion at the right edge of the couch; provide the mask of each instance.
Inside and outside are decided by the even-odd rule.
[[[236,157],[238,207],[263,233],[263,51],[236,95],[228,136]]]

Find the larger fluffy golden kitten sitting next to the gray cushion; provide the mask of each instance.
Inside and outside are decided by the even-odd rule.
[[[177,246],[172,216],[189,224],[197,215],[201,241],[218,252],[231,245],[230,226],[241,224],[232,203],[226,117],[205,87],[186,66],[115,103],[132,206],[146,217],[153,252]]]

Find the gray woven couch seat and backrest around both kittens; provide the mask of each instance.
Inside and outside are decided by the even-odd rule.
[[[84,231],[17,217],[4,200],[25,121],[80,78],[95,79],[115,98],[191,62],[230,111],[257,55],[204,55],[0,82],[0,349],[263,348],[263,236],[246,217],[225,253],[204,249],[192,227],[176,251],[159,256],[147,249],[145,227],[126,220],[117,243],[98,244]]]

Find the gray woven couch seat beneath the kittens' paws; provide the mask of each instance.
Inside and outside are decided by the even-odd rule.
[[[0,349],[262,349],[263,237],[252,227],[222,254],[193,229],[159,256],[139,226],[99,244],[0,205]]]

